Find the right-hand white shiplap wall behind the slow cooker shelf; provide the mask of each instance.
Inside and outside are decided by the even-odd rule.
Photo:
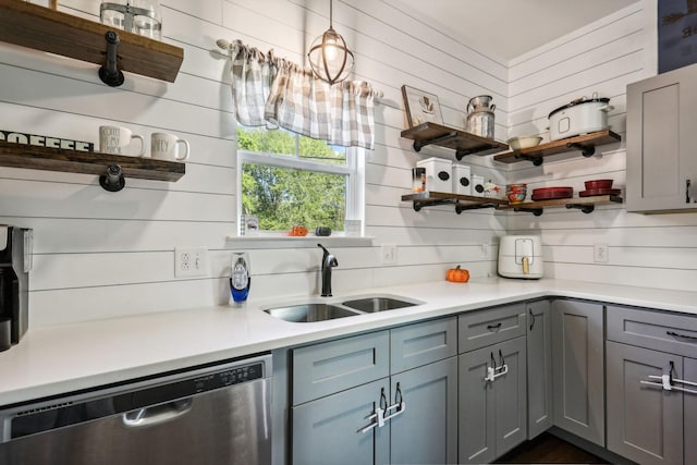
[[[515,59],[510,66],[511,134],[547,132],[550,110],[594,91],[610,97],[611,129],[621,144],[601,148],[590,159],[554,157],[542,167],[513,164],[509,179],[528,188],[573,186],[614,179],[626,185],[625,88],[656,75],[656,1],[647,0]],[[548,159],[550,160],[550,159]],[[591,215],[548,209],[541,217],[515,213],[511,233],[540,233],[546,274],[560,279],[694,291],[697,282],[697,215],[627,213],[624,206],[597,208]],[[594,244],[608,244],[609,261],[594,261]]]

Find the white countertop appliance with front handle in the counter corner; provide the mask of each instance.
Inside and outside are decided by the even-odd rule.
[[[506,235],[499,245],[499,274],[505,278],[542,278],[542,241],[538,235]]]

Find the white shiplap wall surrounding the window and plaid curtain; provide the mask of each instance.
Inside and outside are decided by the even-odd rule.
[[[328,27],[325,0],[162,0],[164,41],[184,49],[174,84],[126,73],[122,87],[97,78],[97,66],[0,44],[0,129],[97,139],[101,124],[120,124],[149,137],[175,133],[192,144],[186,175],[176,183],[126,180],[103,191],[97,176],[0,168],[0,221],[33,228],[30,325],[166,311],[228,302],[225,277],[235,229],[235,144],[229,63],[216,39],[242,39],[261,50],[303,60]],[[60,9],[96,20],[99,2],[69,0]],[[467,99],[490,94],[506,122],[506,68],[442,35],[383,1],[334,1],[334,27],[356,52],[357,78],[384,93],[376,109],[377,147],[366,160],[366,232],[369,246],[333,246],[338,292],[441,279],[455,262],[475,276],[496,270],[496,237],[506,217],[489,211],[455,216],[451,208],[416,213],[400,201],[411,167],[428,156],[400,138],[400,87],[439,95],[444,120],[463,125]],[[505,124],[497,126],[505,138]],[[469,164],[502,182],[488,158]],[[396,265],[379,265],[383,243],[399,245]],[[482,247],[491,244],[492,247]],[[205,246],[205,278],[174,277],[175,246]],[[316,293],[320,250],[270,245],[249,250],[252,298]]]

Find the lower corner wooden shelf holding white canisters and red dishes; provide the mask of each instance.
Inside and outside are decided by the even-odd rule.
[[[419,211],[424,207],[454,205],[457,215],[465,210],[496,208],[497,210],[526,211],[534,213],[535,216],[540,216],[542,215],[545,207],[577,208],[584,213],[590,213],[594,211],[596,205],[622,204],[622,197],[616,195],[597,195],[592,197],[573,197],[509,204],[506,200],[502,200],[500,198],[426,191],[417,194],[403,195],[402,201],[413,201],[414,210],[416,211]]]

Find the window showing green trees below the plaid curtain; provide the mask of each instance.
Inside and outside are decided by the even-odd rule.
[[[343,231],[344,219],[363,218],[359,150],[284,130],[239,125],[237,211],[256,216],[261,231],[285,232],[294,225]]]

